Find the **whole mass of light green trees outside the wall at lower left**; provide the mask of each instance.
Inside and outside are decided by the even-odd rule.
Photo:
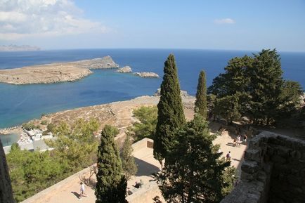
[[[16,202],[95,162],[93,158],[96,157],[98,144],[93,132],[98,129],[96,120],[86,122],[79,119],[71,127],[64,122],[58,126],[52,125],[48,124],[48,129],[57,139],[46,140],[46,143],[54,150],[30,152],[20,150],[17,144],[11,146],[7,162]]]

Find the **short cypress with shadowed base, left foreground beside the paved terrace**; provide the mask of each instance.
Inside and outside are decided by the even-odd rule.
[[[98,173],[96,174],[96,203],[126,203],[126,178],[114,136],[117,129],[106,125],[98,146]]]

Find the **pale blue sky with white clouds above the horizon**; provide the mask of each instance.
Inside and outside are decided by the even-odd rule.
[[[305,51],[305,0],[0,0],[0,45]]]

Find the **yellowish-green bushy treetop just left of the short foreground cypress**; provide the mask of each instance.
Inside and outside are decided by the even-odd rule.
[[[98,142],[93,133],[98,126],[96,119],[79,119],[72,127],[62,122],[53,129],[56,139],[46,140],[46,144],[54,149],[53,153],[67,171],[83,169],[96,159]]]

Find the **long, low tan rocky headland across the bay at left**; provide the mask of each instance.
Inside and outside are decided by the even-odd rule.
[[[61,81],[75,81],[91,74],[90,69],[114,67],[119,67],[119,65],[108,55],[90,60],[0,70],[0,82],[8,84],[49,84]]]

